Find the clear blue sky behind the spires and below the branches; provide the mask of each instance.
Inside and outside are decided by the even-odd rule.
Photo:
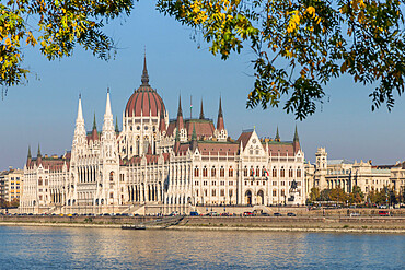
[[[70,58],[48,61],[37,50],[25,50],[31,70],[25,85],[8,89],[0,101],[0,169],[22,168],[28,145],[36,156],[61,155],[71,149],[79,94],[82,95],[85,127],[90,130],[96,115],[101,130],[106,90],[111,90],[113,114],[121,127],[123,110],[140,85],[144,49],[150,84],[162,96],[170,118],[175,118],[178,95],[184,117],[198,116],[204,99],[206,117],[217,119],[219,97],[225,128],[238,139],[243,129],[256,128],[259,137],[274,138],[277,127],[281,140],[291,141],[297,124],[305,159],[315,161],[320,146],[328,159],[372,160],[373,164],[395,164],[405,160],[405,101],[396,98],[394,109],[371,111],[368,97],[372,86],[355,84],[349,77],[335,79],[325,86],[322,108],[303,121],[281,108],[246,109],[253,89],[253,52],[245,48],[227,61],[212,56],[194,31],[165,17],[154,1],[140,1],[129,17],[123,16],[105,28],[118,46],[109,61],[77,48]]]

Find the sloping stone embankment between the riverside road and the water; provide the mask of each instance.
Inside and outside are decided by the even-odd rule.
[[[167,230],[223,230],[223,231],[278,231],[278,232],[351,232],[405,234],[405,218],[354,216],[184,216],[177,225],[164,226],[157,216],[1,216],[0,225],[12,226],[67,226],[112,227],[141,224],[146,228]],[[159,221],[159,222],[158,222]]]

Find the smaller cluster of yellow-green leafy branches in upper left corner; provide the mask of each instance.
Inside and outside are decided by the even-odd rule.
[[[0,3],[0,85],[22,83],[26,47],[49,60],[69,57],[77,45],[107,60],[114,42],[103,33],[108,20],[129,14],[132,0],[7,0]]]

